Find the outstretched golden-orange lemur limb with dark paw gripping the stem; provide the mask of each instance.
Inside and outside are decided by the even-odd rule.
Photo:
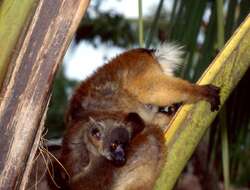
[[[130,80],[126,89],[144,104],[168,106],[206,100],[211,104],[212,111],[218,110],[220,105],[218,87],[191,84],[162,72],[144,72]]]

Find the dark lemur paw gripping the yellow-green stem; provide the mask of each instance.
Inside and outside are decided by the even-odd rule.
[[[211,105],[211,111],[218,111],[220,106],[220,88],[212,84],[204,85],[205,96]]]

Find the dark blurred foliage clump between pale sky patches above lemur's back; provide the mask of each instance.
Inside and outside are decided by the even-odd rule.
[[[121,47],[135,43],[136,23],[133,26],[121,14],[115,12],[97,12],[97,14],[94,18],[87,14],[87,17],[82,20],[75,36],[77,43],[83,39],[94,43],[95,46],[100,42],[94,39]]]

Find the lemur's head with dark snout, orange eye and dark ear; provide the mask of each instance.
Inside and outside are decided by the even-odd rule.
[[[126,150],[144,122],[136,113],[89,116],[85,143],[88,151],[110,160],[115,166],[126,163]]]

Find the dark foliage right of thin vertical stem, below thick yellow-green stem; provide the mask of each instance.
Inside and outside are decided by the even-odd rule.
[[[229,97],[227,128],[229,134],[231,179],[250,187],[250,69]]]

